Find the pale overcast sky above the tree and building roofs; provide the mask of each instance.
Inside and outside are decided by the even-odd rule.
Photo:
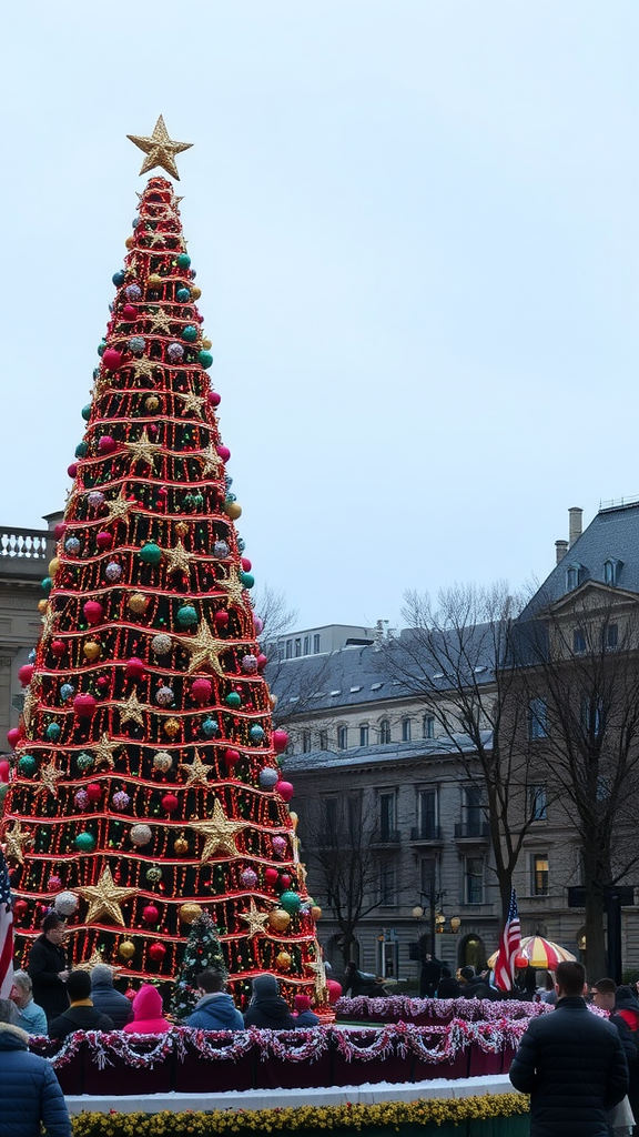
[[[2,41],[3,525],[64,504],[159,114],[298,626],[542,580],[639,495],[636,0],[32,0]]]

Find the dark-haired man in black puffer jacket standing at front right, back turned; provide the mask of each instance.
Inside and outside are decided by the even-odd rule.
[[[529,1024],[511,1081],[531,1095],[531,1137],[608,1137],[606,1113],[628,1093],[619,1031],[588,1010],[581,963],[556,978],[557,1006]]]

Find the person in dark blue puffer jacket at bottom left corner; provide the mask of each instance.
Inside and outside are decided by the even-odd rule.
[[[0,999],[0,1137],[70,1137],[68,1110],[47,1059],[28,1051],[28,1035],[14,1024],[15,1007]]]

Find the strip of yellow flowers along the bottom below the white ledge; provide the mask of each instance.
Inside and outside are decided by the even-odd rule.
[[[301,1105],[281,1110],[225,1110],[213,1113],[80,1113],[73,1118],[73,1137],[169,1137],[174,1132],[205,1137],[254,1130],[399,1128],[401,1124],[509,1118],[528,1113],[522,1094],[487,1094],[482,1097],[425,1098],[420,1102],[382,1102],[379,1105]]]

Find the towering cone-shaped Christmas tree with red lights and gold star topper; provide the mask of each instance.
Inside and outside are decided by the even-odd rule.
[[[142,173],[177,177],[161,118],[131,138]],[[166,979],[208,911],[238,1001],[260,971],[321,1001],[181,199],[164,177],[139,197],[9,738],[17,941],[26,958],[55,904],[74,962]]]

